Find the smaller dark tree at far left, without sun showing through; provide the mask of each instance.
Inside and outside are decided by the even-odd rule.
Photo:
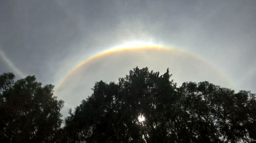
[[[0,75],[0,142],[55,142],[61,125],[63,101],[54,86],[41,86],[34,76],[14,81]]]

